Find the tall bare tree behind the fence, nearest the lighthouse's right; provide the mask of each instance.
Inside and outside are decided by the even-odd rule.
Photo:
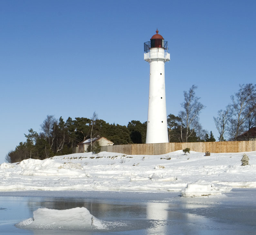
[[[184,108],[184,111],[179,112],[182,142],[188,142],[188,138],[192,135],[193,130],[196,131],[201,128],[199,114],[205,106],[199,102],[200,98],[195,95],[196,89],[197,86],[192,85],[189,92],[183,92],[184,102],[181,103],[181,107]],[[182,128],[185,128],[185,136],[182,136]]]

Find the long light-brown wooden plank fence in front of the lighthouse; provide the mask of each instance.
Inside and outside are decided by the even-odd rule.
[[[256,151],[256,141],[124,144],[102,146],[101,151],[128,155],[160,155],[185,148],[190,148],[190,151],[195,152],[251,152]]]

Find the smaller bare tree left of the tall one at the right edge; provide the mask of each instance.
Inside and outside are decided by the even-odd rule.
[[[219,141],[225,141],[224,140],[224,134],[226,132],[226,126],[227,122],[232,117],[232,106],[231,104],[228,104],[225,110],[219,110],[218,116],[213,117],[215,126],[220,134]]]

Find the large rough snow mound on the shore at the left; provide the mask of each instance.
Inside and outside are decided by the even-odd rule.
[[[81,163],[60,163],[52,159],[38,160],[26,159],[20,162],[21,175],[41,176],[89,176]]]

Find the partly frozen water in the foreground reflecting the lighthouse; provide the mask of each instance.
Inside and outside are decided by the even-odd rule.
[[[0,233],[84,235],[244,235],[256,234],[255,189],[232,190],[226,196],[182,198],[179,193],[136,192],[1,192]],[[38,208],[85,207],[107,229],[83,232],[24,230],[15,224]],[[72,220],[72,218],[67,218]]]

